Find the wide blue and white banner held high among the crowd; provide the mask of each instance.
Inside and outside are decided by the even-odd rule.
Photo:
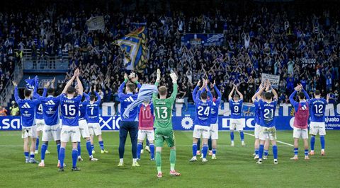
[[[222,46],[224,41],[223,33],[216,34],[203,34],[193,33],[185,34],[181,37],[181,45],[191,47],[191,45],[203,45],[203,46]]]

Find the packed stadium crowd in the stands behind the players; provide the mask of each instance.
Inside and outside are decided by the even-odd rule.
[[[196,82],[207,77],[216,80],[222,100],[227,100],[235,83],[244,100],[250,102],[261,73],[280,75],[280,102],[289,102],[297,83],[309,93],[319,89],[323,95],[334,93],[334,98],[340,91],[338,8],[310,11],[310,7],[296,4],[249,3],[242,11],[222,7],[195,15],[184,11],[123,13],[56,7],[0,12],[0,90],[13,72],[10,57],[14,48],[30,48],[33,56],[60,56],[64,51],[72,57],[72,69],[64,81],[59,81],[60,90],[80,67],[86,92],[96,85],[104,102],[118,102],[125,68],[123,52],[112,42],[146,23],[149,60],[144,73],[138,74],[140,82],[154,83],[157,68],[162,74],[174,69],[179,75],[179,98],[191,98]],[[106,29],[88,31],[86,19],[101,15]],[[222,46],[186,47],[181,45],[185,33],[224,33],[225,42]],[[315,59],[316,63],[305,65],[302,59]],[[162,82],[171,85],[165,78]]]

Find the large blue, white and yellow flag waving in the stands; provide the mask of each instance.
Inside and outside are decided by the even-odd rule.
[[[116,42],[124,53],[125,69],[142,72],[142,70],[145,69],[145,64],[147,62],[147,39],[145,27],[138,28]]]

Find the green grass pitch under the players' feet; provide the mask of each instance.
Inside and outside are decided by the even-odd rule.
[[[252,133],[249,131],[248,133]],[[273,155],[257,165],[253,159],[254,137],[245,135],[247,146],[242,147],[239,134],[235,134],[235,145],[230,147],[229,132],[220,131],[217,160],[208,158],[208,163],[191,158],[192,131],[176,131],[176,170],[181,177],[169,176],[169,148],[162,153],[164,177],[157,179],[156,164],[149,160],[149,153],[142,154],[139,168],[132,168],[130,140],[125,147],[125,166],[117,166],[118,132],[103,132],[106,150],[101,154],[98,142],[94,154],[99,160],[90,162],[81,143],[78,163],[80,172],[72,172],[71,144],[67,146],[65,172],[57,171],[55,143],[49,143],[51,152],[45,157],[45,168],[38,164],[26,164],[23,156],[21,131],[0,132],[0,187],[339,187],[340,185],[340,131],[327,131],[326,155],[319,155],[317,136],[315,151],[309,161],[303,159],[300,141],[300,160],[292,161],[293,147],[278,143],[278,165],[273,165]],[[293,143],[293,131],[278,131],[278,140]],[[165,145],[164,145],[165,146]],[[35,157],[40,160],[40,153]]]

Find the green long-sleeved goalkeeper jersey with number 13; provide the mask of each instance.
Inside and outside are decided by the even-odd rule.
[[[158,82],[154,83],[157,87],[158,84]],[[169,98],[159,99],[157,93],[152,95],[152,103],[154,104],[154,128],[172,130],[172,106],[176,100],[177,87],[177,83],[174,83],[174,88]]]

